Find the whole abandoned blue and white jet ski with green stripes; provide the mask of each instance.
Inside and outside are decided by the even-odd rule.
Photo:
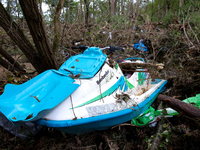
[[[21,85],[7,84],[0,96],[0,111],[16,126],[34,122],[69,134],[83,134],[141,115],[165,88],[167,81],[152,81],[146,69],[138,67],[127,75],[102,49],[85,49],[58,70],[47,70]],[[145,61],[127,58],[122,63]]]

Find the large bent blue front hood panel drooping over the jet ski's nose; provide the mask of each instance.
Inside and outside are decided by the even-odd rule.
[[[16,126],[35,121],[79,87],[74,81],[56,70],[47,70],[21,85],[7,84],[0,96],[0,111]]]

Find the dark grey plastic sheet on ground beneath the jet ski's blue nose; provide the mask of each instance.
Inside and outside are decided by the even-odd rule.
[[[16,127],[1,112],[0,112],[0,126],[6,129],[11,134],[20,138],[26,138],[29,135],[30,136],[36,135],[42,128],[44,128],[41,125],[36,125],[31,122],[26,122],[23,125]]]

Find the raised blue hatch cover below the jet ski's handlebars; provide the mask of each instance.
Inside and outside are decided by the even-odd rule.
[[[98,47],[90,47],[83,54],[72,56],[59,69],[63,74],[69,75],[70,70],[74,75],[81,74],[79,78],[92,78],[105,62],[107,55]]]

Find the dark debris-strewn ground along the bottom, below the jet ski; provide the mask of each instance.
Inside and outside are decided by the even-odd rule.
[[[181,124],[182,121],[182,117],[165,120],[163,131],[165,134],[162,134],[160,149],[200,148],[197,144],[200,138],[199,128],[197,126],[190,128],[194,122]],[[156,135],[156,127],[128,125],[82,135],[64,134],[57,130],[42,130],[36,136],[30,136],[26,139],[15,137],[3,128],[0,128],[0,134],[0,149],[146,150]]]

